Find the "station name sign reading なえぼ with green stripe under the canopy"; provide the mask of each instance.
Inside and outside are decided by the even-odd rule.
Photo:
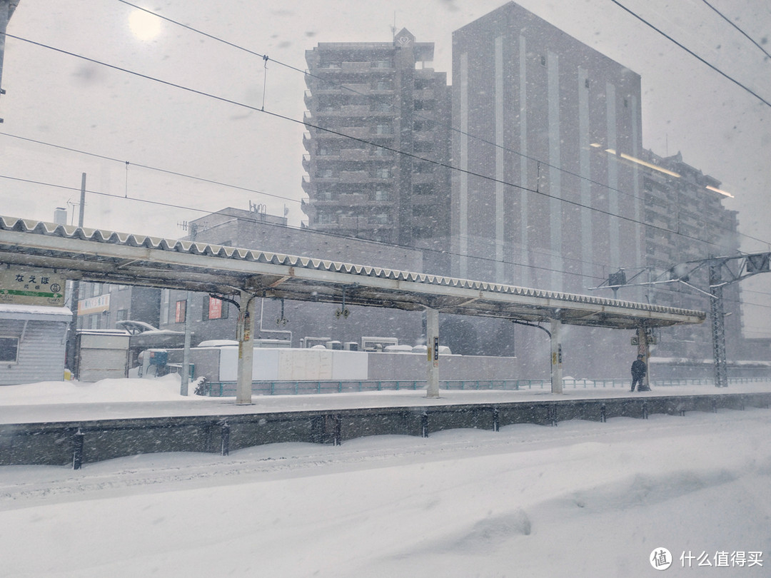
[[[0,268],[0,303],[63,307],[66,281],[51,269]]]

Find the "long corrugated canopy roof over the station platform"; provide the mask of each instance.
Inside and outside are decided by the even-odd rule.
[[[45,267],[69,279],[280,297],[370,307],[632,329],[701,323],[703,311],[662,307],[0,217],[0,263]]]

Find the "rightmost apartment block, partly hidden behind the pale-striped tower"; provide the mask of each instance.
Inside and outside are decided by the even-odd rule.
[[[688,274],[688,285],[659,282],[645,287],[645,300],[667,307],[709,311],[708,267],[696,268],[708,257],[731,257],[739,252],[737,213],[722,206],[719,180],[683,162],[682,155],[662,157],[643,151],[645,270],[635,283],[667,281]],[[668,272],[675,267],[672,274]],[[631,273],[631,272],[630,272]],[[695,288],[694,288],[695,287]],[[622,290],[619,297],[624,297]],[[739,284],[723,288],[728,355],[740,358],[742,322]],[[711,356],[712,326],[668,329],[661,351],[669,358],[705,359]]]

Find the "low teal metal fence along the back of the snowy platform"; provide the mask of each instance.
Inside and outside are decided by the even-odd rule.
[[[769,381],[769,378],[729,378],[729,383],[754,383]],[[651,381],[653,387],[677,387],[678,385],[714,385],[712,379],[663,379]],[[629,388],[629,379],[564,379],[565,389]],[[320,393],[351,393],[359,391],[416,391],[426,388],[426,380],[392,381],[253,381],[254,395],[309,395]],[[439,388],[446,390],[476,391],[517,391],[551,389],[548,379],[476,379],[442,380]],[[235,381],[207,381],[197,393],[210,397],[233,397],[236,395]]]

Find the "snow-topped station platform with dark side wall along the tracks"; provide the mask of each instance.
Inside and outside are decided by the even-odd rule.
[[[36,403],[0,409],[0,465],[69,465],[154,452],[208,452],[281,442],[340,445],[368,435],[417,435],[453,428],[498,431],[582,419],[740,411],[771,406],[771,382],[729,388],[690,385],[631,393],[623,388],[376,391],[350,394],[190,396],[154,402]]]

